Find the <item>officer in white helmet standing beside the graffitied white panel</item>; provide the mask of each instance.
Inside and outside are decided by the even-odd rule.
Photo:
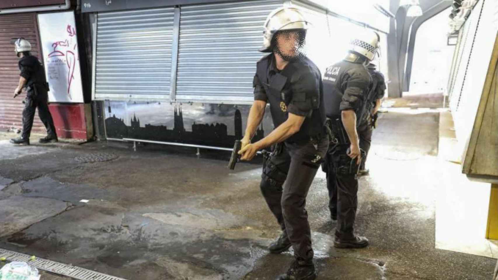
[[[34,113],[38,108],[38,116],[47,129],[47,136],[40,139],[40,143],[57,142],[54,121],[48,110],[48,84],[45,71],[40,61],[31,55],[31,44],[24,38],[15,40],[15,53],[19,57],[20,78],[19,85],[14,90],[14,98],[26,88],[27,94],[22,111],[21,137],[10,139],[11,143],[29,145],[29,136],[33,127]]]

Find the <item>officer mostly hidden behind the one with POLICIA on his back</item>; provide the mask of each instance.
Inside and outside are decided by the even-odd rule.
[[[365,113],[363,114],[362,123],[358,127],[358,134],[360,137],[360,149],[365,151],[365,157],[362,159],[360,165],[360,171],[358,176],[364,176],[369,174],[369,170],[365,168],[365,163],[367,162],[367,157],[370,151],[370,145],[372,143],[372,133],[376,126],[376,121],[378,117],[378,109],[382,98],[384,97],[385,89],[385,79],[384,75],[376,70],[376,66],[373,63],[367,65],[367,70],[372,77],[372,83],[370,85],[369,95],[367,97],[367,102],[365,106]]]

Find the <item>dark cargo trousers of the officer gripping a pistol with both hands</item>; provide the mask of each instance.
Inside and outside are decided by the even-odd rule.
[[[296,258],[313,259],[306,195],[329,145],[325,137],[315,145],[279,144],[263,163],[261,193],[282,230],[287,232]]]

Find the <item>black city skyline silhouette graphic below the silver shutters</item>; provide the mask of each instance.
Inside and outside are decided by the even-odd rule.
[[[140,127],[140,118],[133,114],[130,119],[130,125],[127,126],[124,120],[117,118],[116,115],[106,119],[106,131],[109,138],[134,138],[143,140],[179,142],[185,144],[198,144],[206,146],[217,146],[232,148],[235,140],[243,137],[242,114],[239,109],[235,110],[234,127],[235,135],[228,134],[228,127],[224,123],[211,124],[192,124],[192,131],[186,131],[183,122],[182,108],[174,109],[174,124],[172,129],[165,125],[145,124]],[[257,129],[253,141],[258,141],[264,137],[262,124]]]

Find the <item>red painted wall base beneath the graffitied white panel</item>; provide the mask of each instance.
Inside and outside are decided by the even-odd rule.
[[[92,110],[90,104],[50,103],[57,136],[88,140],[93,137]]]

